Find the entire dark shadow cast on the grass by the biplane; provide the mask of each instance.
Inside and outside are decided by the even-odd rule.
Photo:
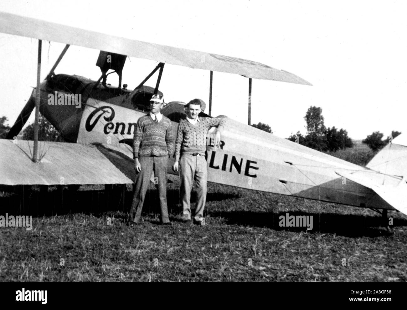
[[[0,197],[0,215],[33,215],[53,216],[70,213],[85,213],[98,217],[103,212],[121,211],[129,212],[133,199],[132,191],[127,191],[124,186],[110,186],[104,191],[77,191],[78,186],[55,186],[46,192],[41,189],[33,190],[29,186],[15,186],[13,191]],[[240,198],[236,193],[208,193],[207,202],[222,201],[226,199]],[[196,194],[191,194],[191,201],[196,200]],[[167,191],[168,211],[172,220],[176,220],[182,207],[178,189]],[[192,204],[194,207],[195,204]],[[147,191],[144,202],[143,214],[156,214],[160,212],[159,199],[155,189]],[[349,237],[358,236],[382,236],[387,231],[381,226],[381,216],[371,215],[341,215],[337,213],[307,213],[288,212],[294,216],[312,216],[313,229],[308,233],[320,232]],[[287,212],[275,212],[272,207],[267,212],[258,211],[219,211],[218,209],[207,210],[206,215],[211,218],[222,218],[227,225],[243,225],[252,227],[267,227],[273,230],[304,231],[303,227],[280,227],[280,216],[286,216]],[[391,213],[390,213],[391,216]],[[125,215],[123,216],[125,221]],[[407,226],[406,219],[395,218],[393,228]]]

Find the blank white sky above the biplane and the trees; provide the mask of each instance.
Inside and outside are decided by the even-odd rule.
[[[0,11],[292,72],[314,86],[253,80],[252,123],[269,124],[280,137],[305,133],[303,117],[315,105],[327,127],[344,128],[353,139],[376,130],[407,132],[406,9],[406,1],[0,2]],[[36,84],[37,44],[0,34],[0,116],[10,126]],[[63,46],[43,42],[42,79]],[[98,52],[71,46],[55,73],[96,80]],[[130,61],[123,84],[133,89],[157,63]],[[154,77],[147,85],[155,86]],[[115,74],[108,82],[117,85]],[[166,102],[201,98],[208,106],[209,72],[166,65],[160,90]],[[212,115],[247,123],[247,91],[247,78],[214,72]]]

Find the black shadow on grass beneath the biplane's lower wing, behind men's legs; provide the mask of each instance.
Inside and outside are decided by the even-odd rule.
[[[105,190],[78,191],[79,186],[53,186],[48,189],[31,186],[13,186],[4,191],[0,197],[0,215],[33,215],[53,216],[70,213],[85,213],[98,216],[107,211],[129,212],[133,200],[133,192],[125,186],[110,186]],[[207,202],[239,198],[237,194],[208,193]],[[195,192],[191,193],[191,201],[196,200]],[[158,191],[147,191],[143,213],[159,213],[160,202]],[[180,214],[182,207],[177,189],[167,190],[167,205],[170,214]],[[194,205],[194,204],[193,204]]]

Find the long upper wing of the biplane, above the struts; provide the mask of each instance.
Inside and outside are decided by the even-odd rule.
[[[0,12],[0,32],[105,50],[172,65],[240,74],[247,78],[311,85],[295,74],[255,61],[126,39],[10,13]]]

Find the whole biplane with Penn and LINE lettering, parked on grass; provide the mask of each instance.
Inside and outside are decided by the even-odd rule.
[[[249,125],[253,78],[311,85],[294,74],[254,61],[115,37],[9,13],[0,13],[0,32],[39,40],[37,87],[7,139],[0,140],[0,184],[5,185],[133,183],[133,131],[137,119],[148,111],[151,96],[162,95],[159,86],[165,64],[210,71],[209,112],[204,113],[203,108],[200,114],[204,117],[212,117],[213,71],[248,78]],[[39,79],[41,40],[67,44],[43,82]],[[70,45],[101,51],[96,63],[101,68],[98,80],[54,73]],[[159,62],[133,90],[121,85],[127,56]],[[113,71],[107,73],[109,70]],[[158,70],[155,87],[144,85]],[[107,75],[113,72],[118,75],[117,87],[106,83]],[[47,152],[39,158],[37,137],[28,143],[16,143],[14,138],[34,109],[36,122],[40,111],[72,143],[45,142]],[[176,131],[179,120],[185,117],[184,105],[169,102],[162,113],[171,119]],[[405,135],[393,139],[366,167],[361,167],[220,117],[225,118],[220,147],[215,147],[211,139],[214,128],[207,137],[208,181],[370,208],[381,213],[385,221],[387,210],[407,214]],[[174,173],[172,165],[173,160],[169,160],[168,173]]]

